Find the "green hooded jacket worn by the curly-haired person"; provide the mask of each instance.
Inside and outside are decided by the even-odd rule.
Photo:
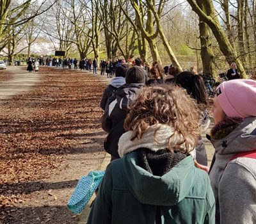
[[[191,156],[162,177],[140,166],[136,151],[110,163],[88,224],[215,223],[215,201],[207,173]]]

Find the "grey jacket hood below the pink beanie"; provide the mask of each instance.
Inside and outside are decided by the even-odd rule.
[[[220,155],[236,154],[256,149],[256,116],[245,118],[243,123],[221,140],[211,139]]]

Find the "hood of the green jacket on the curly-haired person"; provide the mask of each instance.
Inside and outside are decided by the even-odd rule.
[[[122,159],[125,184],[141,203],[170,206],[179,203],[193,187],[197,170],[191,156],[182,159],[162,177],[152,175],[136,161],[136,151]]]

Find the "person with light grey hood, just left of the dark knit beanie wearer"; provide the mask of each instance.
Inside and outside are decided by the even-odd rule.
[[[113,78],[110,84],[106,87],[100,100],[100,108],[102,108],[103,110],[105,110],[106,108],[109,97],[111,97],[115,93],[116,89],[125,84],[125,74],[128,69],[128,64],[121,64],[116,67],[116,77]]]

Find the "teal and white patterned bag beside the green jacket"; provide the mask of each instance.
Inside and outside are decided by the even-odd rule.
[[[87,176],[82,176],[68,201],[68,209],[79,214],[89,202],[94,191],[98,188],[105,170],[91,171]]]

